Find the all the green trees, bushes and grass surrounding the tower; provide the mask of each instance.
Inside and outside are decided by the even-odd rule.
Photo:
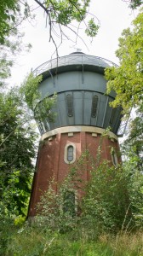
[[[90,1],[35,2],[42,5],[49,19],[53,19],[49,26],[49,37],[54,42],[52,22],[57,22],[59,26],[69,26],[75,19],[82,22],[88,14]],[[24,8],[21,8],[21,3]],[[129,1],[132,9],[141,3],[142,1]],[[60,184],[57,195],[52,189],[54,180],[51,182],[49,190],[38,205],[43,214],[37,216],[36,222],[29,223],[25,220],[34,170],[33,159],[37,151],[37,135],[33,127],[35,124],[31,121],[31,110],[38,100],[38,95],[33,94],[33,91],[36,91],[41,78],[34,79],[30,75],[20,89],[10,90],[5,79],[9,78],[10,67],[13,65],[11,54],[15,55],[21,50],[22,34],[18,30],[18,24],[31,16],[31,9],[26,1],[0,3],[0,254],[141,256],[143,123],[140,85],[143,69],[143,15],[140,11],[140,15],[134,20],[134,30],[124,31],[119,40],[117,56],[120,67],[106,71],[108,90],[117,92],[114,107],[122,105],[127,114],[130,108],[137,108],[137,116],[129,126],[129,137],[123,143],[126,160],[122,166],[111,167],[107,162],[97,166],[97,160],[89,152],[85,152],[76,166],[72,166],[66,180]],[[98,27],[98,23],[89,20],[87,34],[93,37]],[[46,112],[54,100],[55,97],[51,102],[46,100]],[[31,110],[27,108],[26,102]],[[92,177],[87,184],[83,184],[81,179],[85,159],[89,161]],[[75,188],[85,192],[83,200],[77,201],[78,214],[71,201],[63,200],[65,192]]]

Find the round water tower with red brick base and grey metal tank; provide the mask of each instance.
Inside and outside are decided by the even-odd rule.
[[[121,108],[109,106],[115,93],[106,95],[104,78],[105,68],[114,65],[100,57],[74,52],[45,62],[35,70],[35,75],[43,75],[39,84],[42,97],[53,96],[56,92],[57,100],[51,110],[56,113],[54,122],[45,119],[37,124],[43,143],[37,155],[28,216],[36,214],[41,191],[48,188],[52,177],[62,181],[69,164],[76,162],[85,149],[96,156],[100,136],[109,126],[111,131],[103,138],[101,159],[109,160],[112,165],[120,160],[117,132]],[[83,178],[89,179],[88,171]]]

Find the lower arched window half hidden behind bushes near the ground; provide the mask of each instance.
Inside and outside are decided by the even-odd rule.
[[[69,212],[72,216],[76,214],[75,209],[75,193],[66,190],[64,194],[63,212]]]

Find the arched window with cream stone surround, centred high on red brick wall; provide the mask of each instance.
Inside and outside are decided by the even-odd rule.
[[[76,160],[76,146],[74,143],[70,143],[66,145],[64,160],[66,164],[72,164]]]

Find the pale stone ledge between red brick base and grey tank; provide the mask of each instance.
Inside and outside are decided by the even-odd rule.
[[[43,141],[44,139],[52,137],[58,133],[71,133],[71,132],[74,133],[74,132],[81,132],[81,131],[102,134],[106,130],[99,127],[85,126],[85,125],[65,126],[65,127],[56,128],[52,131],[48,131],[44,133],[40,140]],[[110,138],[113,138],[118,141],[118,137],[112,131],[108,131],[107,134]]]

